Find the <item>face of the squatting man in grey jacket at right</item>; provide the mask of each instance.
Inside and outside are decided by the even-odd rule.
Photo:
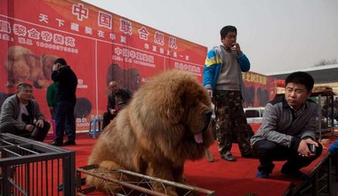
[[[304,85],[288,83],[286,85],[286,102],[295,110],[302,107],[303,103],[310,97],[311,92]]]

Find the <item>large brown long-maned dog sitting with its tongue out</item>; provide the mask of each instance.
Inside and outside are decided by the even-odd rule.
[[[184,183],[184,162],[202,159],[213,143],[211,115],[210,98],[195,76],[176,69],[166,71],[141,86],[103,130],[88,163],[100,165],[95,172],[123,168]],[[93,176],[86,176],[86,184],[118,191],[116,184],[108,188]],[[166,191],[161,184],[152,184],[152,188],[177,195],[173,186]]]

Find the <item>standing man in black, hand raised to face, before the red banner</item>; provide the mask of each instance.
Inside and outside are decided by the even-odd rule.
[[[56,138],[52,145],[76,145],[76,124],[74,108],[76,104],[76,74],[67,65],[64,59],[54,61],[52,67],[52,80],[58,83],[56,94]],[[63,143],[64,132],[68,135],[68,141]]]

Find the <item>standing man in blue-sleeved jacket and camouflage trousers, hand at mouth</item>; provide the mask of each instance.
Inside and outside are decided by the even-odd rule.
[[[221,159],[235,161],[230,150],[232,135],[237,138],[242,157],[253,157],[250,135],[243,110],[244,90],[242,71],[250,69],[250,61],[237,43],[237,29],[221,29],[221,45],[207,53],[203,72],[203,85],[215,106],[216,137]]]

